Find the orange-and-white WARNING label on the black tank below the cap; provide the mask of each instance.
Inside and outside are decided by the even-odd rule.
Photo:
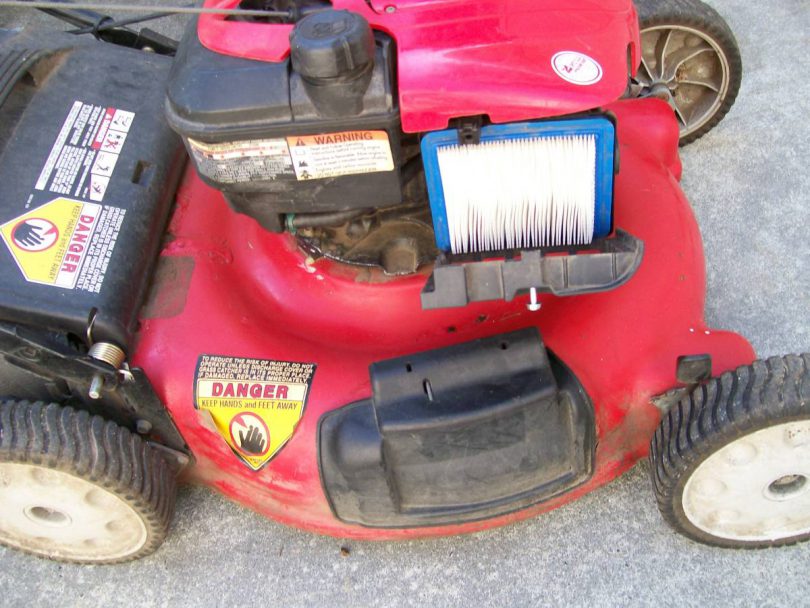
[[[385,131],[288,137],[287,145],[299,180],[394,170]]]

